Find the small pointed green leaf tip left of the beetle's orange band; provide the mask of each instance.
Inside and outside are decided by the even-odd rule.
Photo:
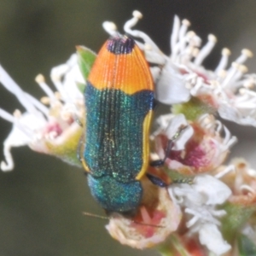
[[[79,68],[83,74],[84,80],[86,81],[90,73],[90,69],[96,60],[96,53],[84,46],[77,46],[77,53]]]

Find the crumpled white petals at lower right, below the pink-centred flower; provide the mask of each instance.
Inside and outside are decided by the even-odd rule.
[[[184,207],[188,236],[198,233],[201,244],[217,255],[230,250],[230,245],[218,230],[218,218],[223,217],[226,212],[217,209],[231,195],[227,185],[210,175],[201,175],[195,177],[193,184],[170,186],[169,193]]]

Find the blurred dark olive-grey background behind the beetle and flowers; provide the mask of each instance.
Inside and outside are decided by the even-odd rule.
[[[137,28],[166,54],[174,15],[190,20],[204,42],[208,33],[218,37],[205,61],[208,68],[217,65],[224,47],[231,49],[231,60],[242,48],[256,53],[255,0],[0,0],[0,62],[23,90],[40,98],[43,93],[34,82],[38,73],[49,82],[50,68],[67,61],[75,45],[97,51],[108,38],[102,22],[113,20],[122,32],[134,9],[144,15]],[[256,72],[256,58],[247,66],[250,73]],[[0,106],[10,113],[20,108],[1,86]],[[232,154],[254,161],[256,167],[255,128],[226,124],[242,138]],[[0,119],[0,143],[10,129]],[[12,153],[14,172],[0,172],[1,256],[157,255],[119,245],[108,236],[106,221],[82,215],[103,214],[82,170],[26,147]]]

